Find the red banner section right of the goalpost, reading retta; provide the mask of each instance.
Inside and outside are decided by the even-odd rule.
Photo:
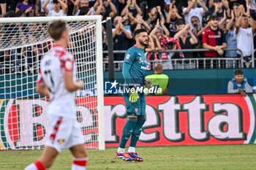
[[[255,143],[255,96],[148,96],[138,146]],[[105,142],[117,147],[126,121],[122,97],[105,97]]]

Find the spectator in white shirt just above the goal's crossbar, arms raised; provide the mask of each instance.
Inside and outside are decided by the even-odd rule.
[[[48,16],[66,16],[67,15],[67,4],[62,0],[53,0],[53,10],[49,10],[47,5],[50,0],[45,0],[45,3],[42,4],[42,9],[45,10],[45,13]]]

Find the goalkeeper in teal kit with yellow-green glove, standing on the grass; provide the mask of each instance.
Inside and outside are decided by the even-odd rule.
[[[146,29],[138,29],[134,32],[136,44],[127,50],[124,56],[123,76],[125,84],[129,89],[124,93],[124,101],[127,107],[127,122],[124,125],[121,142],[116,152],[116,157],[124,161],[143,161],[135,151],[136,143],[140,137],[141,128],[146,121],[146,100],[144,93],[139,93],[136,88],[151,87],[150,82],[145,82],[146,56],[144,48],[148,45],[148,34]],[[125,152],[125,145],[129,137],[128,152]]]

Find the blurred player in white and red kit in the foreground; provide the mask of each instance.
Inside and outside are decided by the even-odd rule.
[[[37,93],[50,96],[50,136],[39,160],[27,166],[26,170],[48,169],[61,149],[66,147],[74,156],[72,170],[86,169],[87,155],[75,110],[75,91],[83,88],[83,82],[75,79],[74,57],[66,50],[69,45],[66,23],[53,21],[48,27],[48,34],[55,44],[42,58]]]

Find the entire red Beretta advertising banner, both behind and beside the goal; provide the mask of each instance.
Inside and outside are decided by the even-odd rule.
[[[82,129],[97,117],[78,98],[78,121]],[[254,144],[256,139],[256,94],[147,96],[146,123],[138,146],[191,144]],[[45,144],[48,133],[48,101],[0,100],[0,150]],[[121,96],[105,97],[105,143],[117,147],[125,123]],[[97,129],[83,131],[85,140]]]

